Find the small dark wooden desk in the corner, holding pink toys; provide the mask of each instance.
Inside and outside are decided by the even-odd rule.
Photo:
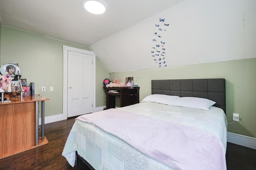
[[[117,90],[113,93],[111,90]],[[108,87],[106,88],[107,109],[116,107],[116,96],[120,96],[120,107],[137,104],[140,101],[140,87]]]

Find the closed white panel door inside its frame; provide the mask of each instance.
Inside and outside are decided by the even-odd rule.
[[[68,117],[92,113],[92,55],[68,51]]]

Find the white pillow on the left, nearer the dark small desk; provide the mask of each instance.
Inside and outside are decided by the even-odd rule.
[[[180,98],[179,96],[169,96],[165,94],[152,94],[144,98],[141,102],[154,102],[160,104],[171,105],[172,101]]]

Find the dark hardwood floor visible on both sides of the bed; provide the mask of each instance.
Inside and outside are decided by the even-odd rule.
[[[48,123],[45,136],[49,143],[7,158],[0,159],[0,170],[82,170],[68,164],[62,154],[74,118]],[[256,170],[256,150],[228,143],[226,152],[228,170]]]

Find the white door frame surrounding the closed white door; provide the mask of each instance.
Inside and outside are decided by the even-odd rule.
[[[92,112],[95,112],[96,98],[95,98],[95,54],[92,51],[77,49],[63,45],[63,116],[68,118],[68,51],[92,55]]]

